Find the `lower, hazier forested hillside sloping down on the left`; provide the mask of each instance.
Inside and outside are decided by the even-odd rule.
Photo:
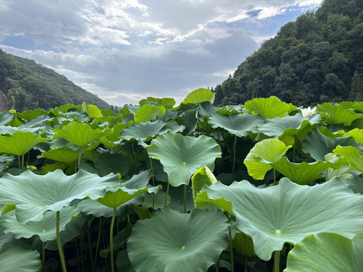
[[[82,102],[110,108],[108,103],[33,60],[0,50],[0,90],[8,98],[8,108],[50,109],[67,103]]]

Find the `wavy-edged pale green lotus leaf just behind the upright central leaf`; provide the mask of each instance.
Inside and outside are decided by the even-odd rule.
[[[121,130],[120,137],[130,141],[131,139],[140,139],[142,142],[147,142],[160,134],[177,133],[183,131],[185,126],[179,126],[177,122],[164,123],[163,121],[156,120],[154,122],[146,121],[145,123],[138,123]]]

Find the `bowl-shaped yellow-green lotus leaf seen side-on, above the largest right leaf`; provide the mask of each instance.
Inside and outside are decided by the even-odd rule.
[[[283,174],[283,176],[290,179],[290,181],[294,181],[300,185],[307,185],[311,183],[311,181],[321,179],[323,177],[321,172],[328,168],[339,169],[346,163],[346,160],[343,160],[342,158],[332,161],[318,160],[314,163],[291,163],[288,158],[282,157],[276,162],[268,164]]]

